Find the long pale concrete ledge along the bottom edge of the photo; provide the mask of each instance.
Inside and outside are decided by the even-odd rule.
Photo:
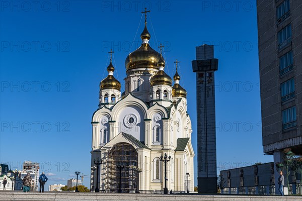
[[[201,195],[201,194],[132,194],[91,192],[14,192],[1,191],[1,201],[112,201],[112,200],[201,200],[201,201],[301,201],[301,196],[259,196],[259,195]]]

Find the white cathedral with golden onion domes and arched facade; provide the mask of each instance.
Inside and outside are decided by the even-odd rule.
[[[125,91],[121,93],[113,76],[112,51],[108,76],[100,83],[99,108],[92,117],[90,187],[103,192],[161,193],[166,179],[169,191],[194,191],[187,92],[179,84],[177,61],[172,85],[162,53],[150,47],[143,13],[142,44],[125,61]],[[165,154],[170,159],[166,178]]]

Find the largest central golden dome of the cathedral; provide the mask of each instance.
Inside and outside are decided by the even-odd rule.
[[[148,43],[143,43],[127,56],[125,61],[126,71],[137,68],[154,68],[158,70],[157,64],[161,58],[160,53],[152,49]]]

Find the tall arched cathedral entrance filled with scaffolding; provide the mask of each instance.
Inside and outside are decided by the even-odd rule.
[[[137,190],[138,153],[128,143],[109,148],[104,167],[107,192],[135,192]]]

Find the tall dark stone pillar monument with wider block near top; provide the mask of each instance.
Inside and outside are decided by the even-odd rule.
[[[213,45],[196,47],[192,66],[196,72],[198,192],[216,192],[214,72],[218,69],[218,59],[214,59]]]

